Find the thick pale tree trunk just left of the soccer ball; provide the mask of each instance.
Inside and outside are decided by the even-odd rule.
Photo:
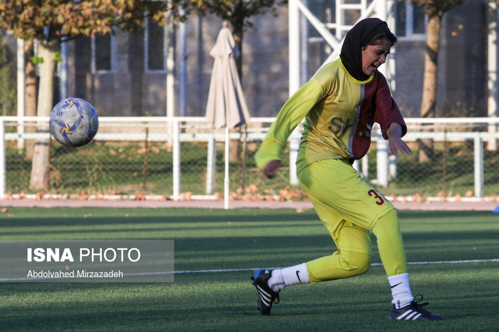
[[[37,116],[49,116],[53,107],[54,57],[59,48],[60,44],[57,40],[40,40],[38,42],[38,54],[43,62],[40,64]],[[48,123],[39,125],[36,131],[47,133],[47,139],[37,139],[35,142],[29,188],[31,190],[45,190],[48,166]]]

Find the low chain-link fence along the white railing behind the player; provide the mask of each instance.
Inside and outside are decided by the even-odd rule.
[[[33,170],[30,156],[25,149],[19,148],[17,122],[5,121],[5,195],[84,199],[223,197],[223,130],[210,129],[203,123],[203,118],[199,121],[191,118],[191,121],[179,122],[176,136],[175,124],[169,121],[146,124],[139,122],[140,118],[126,122],[109,119],[112,118],[101,122],[94,140],[83,147],[69,148],[50,140],[49,163],[43,170]],[[231,198],[306,199],[298,185],[290,185],[289,146],[284,150],[276,178],[263,179],[256,168],[254,152],[267,125],[252,122],[247,136],[242,136],[237,129],[231,132],[231,151],[237,151],[238,142],[246,147],[241,150],[246,153],[229,155]],[[494,137],[487,132],[487,123],[477,123],[471,128],[466,124],[440,124],[431,132],[421,132],[411,123],[409,128],[406,141],[413,150],[412,155],[388,157],[386,145],[383,145],[386,141],[378,140],[378,135],[374,135],[367,156],[354,164],[364,179],[387,197],[424,201],[499,195],[499,152],[487,149],[489,139]],[[27,134],[26,137],[36,135],[48,137],[47,133]],[[426,159],[422,159],[420,153],[423,139],[429,139],[431,146]],[[23,143],[33,144],[33,140],[25,139]],[[211,159],[210,154],[215,158]],[[30,188],[33,171],[45,174],[42,189]]]

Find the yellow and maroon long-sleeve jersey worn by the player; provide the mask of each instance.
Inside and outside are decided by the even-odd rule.
[[[402,125],[403,135],[407,132],[385,77],[376,71],[368,80],[358,81],[338,59],[325,65],[279,111],[255,154],[260,169],[281,160],[287,138],[304,117],[297,172],[318,160],[362,158],[374,122],[380,124],[385,139],[393,122]]]

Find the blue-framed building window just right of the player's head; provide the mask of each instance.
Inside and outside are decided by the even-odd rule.
[[[426,11],[422,6],[397,1],[397,38],[400,40],[426,39]]]

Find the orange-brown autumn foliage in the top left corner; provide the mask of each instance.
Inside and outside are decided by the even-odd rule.
[[[164,24],[167,1],[154,0],[12,0],[0,1],[0,28],[24,39],[67,40],[107,34],[113,26],[133,30],[145,15]],[[47,35],[46,27],[50,27]]]

